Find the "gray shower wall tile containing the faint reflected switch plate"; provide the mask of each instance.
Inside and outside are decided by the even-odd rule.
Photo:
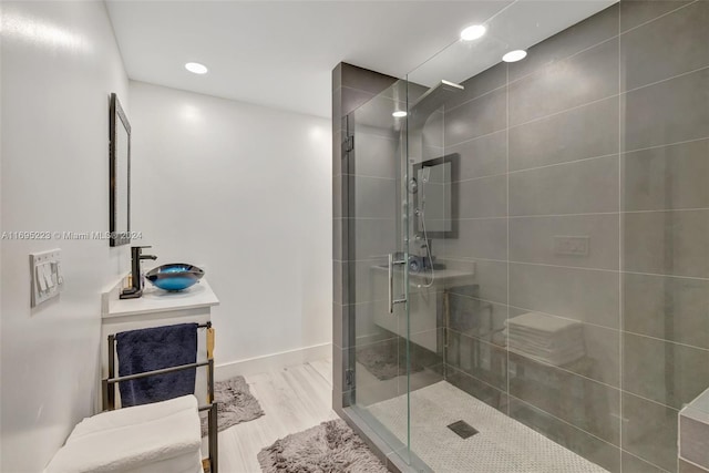
[[[561,254],[555,237],[587,238],[587,255]],[[510,260],[618,269],[618,215],[510,218]]]

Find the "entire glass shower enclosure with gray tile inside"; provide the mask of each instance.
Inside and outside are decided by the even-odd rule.
[[[345,119],[349,407],[414,471],[677,472],[709,388],[709,2],[484,25]]]

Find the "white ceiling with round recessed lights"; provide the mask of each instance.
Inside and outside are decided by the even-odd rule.
[[[614,2],[109,0],[106,4],[131,79],[328,117],[330,73],[340,61],[403,78],[452,45],[414,74],[421,83],[460,81],[499,62],[501,51],[535,44]],[[491,47],[480,42],[471,60],[471,47],[461,49],[459,32],[485,22],[490,29],[483,40]],[[204,63],[209,72],[192,74],[184,69],[186,62]]]

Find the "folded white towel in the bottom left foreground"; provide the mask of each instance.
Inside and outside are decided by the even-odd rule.
[[[126,472],[182,457],[198,463],[201,445],[197,399],[185,395],[84,419],[45,473]]]

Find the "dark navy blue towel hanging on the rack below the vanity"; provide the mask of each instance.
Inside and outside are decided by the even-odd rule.
[[[194,363],[197,323],[155,327],[116,333],[119,376]],[[195,368],[119,383],[121,405],[131,407],[194,394]]]

